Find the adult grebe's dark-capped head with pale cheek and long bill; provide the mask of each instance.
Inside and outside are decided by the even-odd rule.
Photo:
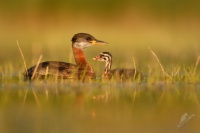
[[[92,35],[87,33],[77,33],[72,38],[72,46],[79,49],[84,49],[86,47],[93,45],[104,45],[104,44],[107,44],[107,42],[97,40]]]

